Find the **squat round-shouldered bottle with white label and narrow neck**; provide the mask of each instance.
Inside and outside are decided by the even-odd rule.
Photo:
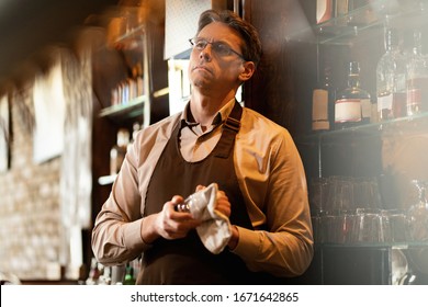
[[[360,88],[360,64],[349,64],[348,87],[338,93],[335,102],[335,128],[348,128],[361,124],[362,113],[369,117],[370,94]]]

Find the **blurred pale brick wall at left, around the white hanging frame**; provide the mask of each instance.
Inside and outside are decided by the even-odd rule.
[[[58,265],[66,269],[66,277],[76,278],[82,264],[79,255],[76,257],[80,251],[70,250],[74,246],[70,228],[79,231],[89,227],[91,187],[82,186],[72,177],[77,168],[79,178],[82,172],[91,177],[92,82],[90,54],[79,52],[53,49],[57,57],[53,57],[55,61],[50,65],[59,60],[66,103],[66,141],[60,157],[43,163],[33,161],[33,81],[13,89],[10,95],[11,167],[0,173],[0,272],[12,273],[21,280],[49,278],[55,272],[52,269],[59,269]],[[86,126],[81,125],[83,118]],[[48,145],[49,139],[45,141]],[[76,197],[68,197],[71,191]]]

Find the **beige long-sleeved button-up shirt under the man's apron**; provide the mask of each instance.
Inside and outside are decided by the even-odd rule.
[[[101,263],[124,263],[151,247],[140,234],[145,197],[155,166],[176,125],[181,120],[189,123],[180,139],[184,159],[201,160],[218,141],[222,133],[218,125],[230,113],[233,103],[219,111],[205,133],[198,124],[189,123],[187,112],[138,133],[92,231],[92,249]],[[285,277],[304,273],[313,258],[311,214],[303,163],[289,132],[244,107],[234,160],[256,230],[238,227],[239,241],[233,252],[251,271]]]

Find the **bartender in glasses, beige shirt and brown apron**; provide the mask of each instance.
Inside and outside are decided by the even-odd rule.
[[[303,164],[290,134],[235,101],[261,56],[256,30],[230,11],[201,14],[185,110],[143,129],[97,217],[106,265],[143,254],[143,284],[263,284],[297,276],[313,257]],[[232,237],[211,253],[201,221],[174,206],[217,183]]]

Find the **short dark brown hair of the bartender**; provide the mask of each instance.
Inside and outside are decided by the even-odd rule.
[[[256,66],[259,64],[261,57],[261,43],[259,39],[259,34],[252,24],[243,20],[233,11],[207,10],[199,18],[196,34],[199,34],[203,27],[213,22],[222,22],[237,31],[244,41],[244,58],[246,60],[254,61]]]

